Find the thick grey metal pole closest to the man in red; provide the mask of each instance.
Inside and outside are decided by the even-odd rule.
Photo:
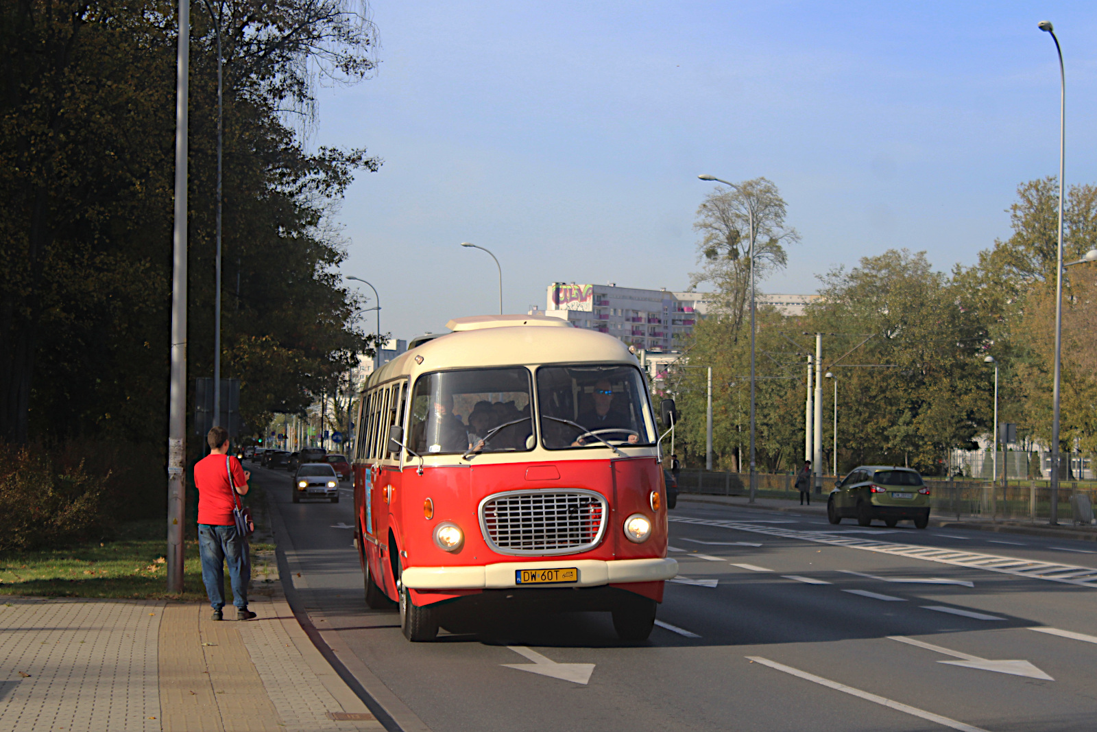
[[[168,592],[183,592],[186,460],[186,134],[191,7],[179,0],[176,45],[176,206],[171,236],[171,371],[168,387]]]

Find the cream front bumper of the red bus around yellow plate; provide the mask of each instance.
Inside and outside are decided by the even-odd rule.
[[[577,582],[567,584],[523,584],[517,576],[522,570],[578,570]],[[505,589],[507,587],[597,587],[629,582],[659,582],[678,574],[672,559],[642,560],[557,560],[554,562],[500,562],[480,566],[410,566],[400,582],[410,589]]]

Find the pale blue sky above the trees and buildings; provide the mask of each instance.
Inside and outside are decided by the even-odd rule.
[[[406,338],[544,306],[554,280],[685,289],[709,172],[780,188],[803,240],[767,292],[893,247],[942,270],[1009,235],[1017,184],[1097,182],[1097,4],[374,0],[374,78],[318,94],[365,146],[348,274]],[[366,289],[367,290],[367,289]],[[371,295],[372,297],[372,295]],[[372,304],[372,303],[371,303]],[[372,314],[366,323],[373,323]],[[366,327],[370,327],[369,325]]]

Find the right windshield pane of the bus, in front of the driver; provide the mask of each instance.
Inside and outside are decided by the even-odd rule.
[[[604,447],[601,440],[655,442],[647,391],[633,367],[542,367],[538,369],[538,405],[542,440],[548,450]]]

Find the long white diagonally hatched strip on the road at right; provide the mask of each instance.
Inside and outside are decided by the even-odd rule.
[[[977,552],[957,551],[953,549],[941,549],[938,547],[924,547],[918,544],[901,544],[891,541],[877,541],[874,539],[836,536],[834,532],[828,531],[803,531],[798,529],[785,529],[777,526],[756,526],[744,521],[731,521],[724,519],[700,519],[688,518],[685,516],[671,516],[669,517],[669,520],[678,523],[714,526],[724,529],[733,529],[735,531],[747,531],[750,533],[762,533],[784,539],[812,541],[819,544],[845,547],[847,549],[861,549],[882,554],[893,554],[896,556],[909,556],[913,559],[926,560],[927,562],[938,562],[940,564],[951,564],[953,566],[986,570],[988,572],[1011,574],[1017,577],[1049,579],[1051,582],[1061,582],[1068,585],[1097,589],[1097,568],[1074,564],[1056,564],[1054,562],[1019,560],[1014,556],[998,556],[996,554],[982,554]]]

